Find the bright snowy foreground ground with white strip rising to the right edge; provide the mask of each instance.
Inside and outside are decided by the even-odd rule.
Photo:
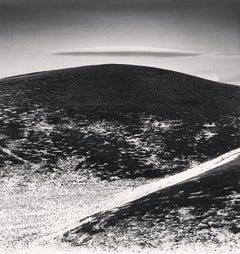
[[[66,187],[63,182],[66,184],[69,181],[67,178],[62,183],[58,182],[59,186],[54,187],[54,181],[43,182],[43,185],[38,186],[35,183],[20,186],[19,181],[17,184],[12,182],[12,185],[10,182],[3,183],[1,186],[4,195],[0,213],[2,221],[0,253],[236,253],[237,246],[233,248],[231,245],[222,245],[216,248],[214,245],[206,246],[201,243],[186,243],[176,249],[169,248],[166,243],[161,251],[151,248],[142,249],[134,245],[128,249],[103,251],[70,247],[69,244],[59,243],[56,239],[61,238],[66,232],[72,237],[76,229],[91,222],[96,213],[104,214],[109,211],[115,213],[136,199],[156,191],[239,164],[240,149],[236,149],[184,172],[150,183],[145,183],[143,180],[138,183],[89,181],[87,185],[86,181],[82,181],[75,185],[70,183]],[[134,187],[136,185],[140,186]],[[113,196],[109,197],[109,193]],[[96,202],[98,207],[95,205]],[[4,211],[4,204],[8,206],[8,210]],[[82,220],[79,222],[79,219]],[[70,223],[71,221],[75,222]]]

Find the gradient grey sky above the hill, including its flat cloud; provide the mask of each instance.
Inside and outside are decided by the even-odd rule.
[[[240,84],[239,0],[0,0],[0,77],[103,63]]]

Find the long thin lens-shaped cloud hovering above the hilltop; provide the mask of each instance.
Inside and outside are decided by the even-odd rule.
[[[203,55],[201,52],[182,51],[160,48],[82,48],[75,51],[54,52],[52,55],[60,56],[118,56],[118,57],[187,57]]]

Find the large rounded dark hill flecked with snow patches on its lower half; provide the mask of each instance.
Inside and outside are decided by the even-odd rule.
[[[237,148],[239,106],[238,86],[141,66],[5,78],[0,164],[5,173],[30,162],[107,179],[166,175]]]

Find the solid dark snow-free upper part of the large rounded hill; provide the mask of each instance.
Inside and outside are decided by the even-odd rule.
[[[27,88],[41,101],[104,111],[149,112],[190,117],[239,111],[240,89],[168,70],[98,65],[23,75],[1,85]]]

